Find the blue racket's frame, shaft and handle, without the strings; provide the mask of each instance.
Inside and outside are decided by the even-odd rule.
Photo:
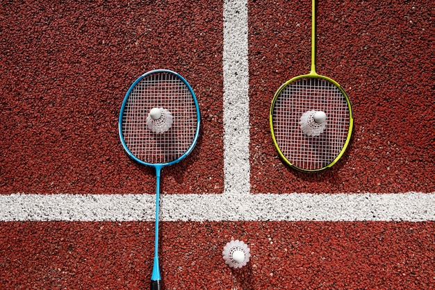
[[[195,108],[197,110],[197,128],[196,128],[195,137],[193,139],[193,142],[190,145],[190,147],[188,148],[188,150],[186,151],[186,153],[184,153],[183,155],[181,155],[181,157],[179,157],[176,160],[173,160],[171,162],[155,163],[154,164],[154,163],[149,163],[149,162],[145,162],[145,161],[138,159],[138,157],[133,155],[133,153],[131,153],[129,148],[127,148],[127,146],[124,142],[124,137],[122,135],[122,114],[124,113],[124,108],[125,108],[127,100],[129,99],[131,91],[134,89],[134,87],[136,87],[136,85],[140,82],[140,80],[142,80],[142,78],[145,78],[146,76],[148,76],[150,74],[160,74],[160,73],[173,74],[174,76],[177,76],[179,79],[181,79],[183,81],[183,83],[186,84],[186,86],[188,87],[188,89],[190,91],[190,94],[192,94],[193,101],[195,102]],[[154,240],[154,264],[153,264],[153,271],[151,274],[151,289],[161,289],[160,288],[161,287],[161,273],[160,273],[160,265],[158,263],[158,219],[159,219],[158,214],[159,214],[159,209],[160,209],[159,201],[160,201],[161,170],[163,169],[163,167],[180,162],[181,160],[186,158],[192,152],[193,148],[195,148],[195,145],[197,144],[200,123],[201,123],[201,114],[199,113],[199,104],[197,101],[197,97],[195,96],[195,92],[193,92],[192,87],[190,87],[190,85],[186,79],[184,79],[182,76],[180,76],[176,72],[170,71],[169,69],[155,69],[152,71],[148,71],[145,74],[142,74],[142,76],[140,76],[137,80],[135,80],[135,82],[130,86],[129,90],[126,92],[126,95],[124,96],[124,101],[122,102],[122,106],[121,106],[121,110],[120,110],[120,119],[118,121],[118,130],[120,133],[121,144],[124,147],[124,151],[127,153],[127,155],[129,155],[129,157],[132,160],[138,162],[139,164],[143,164],[143,165],[146,165],[148,167],[154,167],[154,169],[156,169],[156,225],[155,225],[155,237],[154,237],[154,239],[155,239]]]

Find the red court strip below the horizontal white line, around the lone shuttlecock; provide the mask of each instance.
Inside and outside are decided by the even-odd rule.
[[[167,289],[431,289],[433,223],[162,223]],[[147,289],[151,223],[1,227],[3,289]],[[243,239],[247,266],[224,264]],[[8,245],[8,246],[6,246]],[[7,255],[5,255],[7,253]]]

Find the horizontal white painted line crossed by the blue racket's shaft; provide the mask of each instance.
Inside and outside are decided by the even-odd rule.
[[[154,221],[153,194],[0,195],[0,221]],[[162,221],[435,221],[435,193],[165,194]]]

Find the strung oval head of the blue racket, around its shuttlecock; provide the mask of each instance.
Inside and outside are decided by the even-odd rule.
[[[172,114],[165,133],[147,127],[152,108]],[[183,160],[195,148],[200,126],[199,105],[189,83],[167,69],[148,71],[129,88],[122,102],[119,133],[131,159],[151,167],[164,167]]]

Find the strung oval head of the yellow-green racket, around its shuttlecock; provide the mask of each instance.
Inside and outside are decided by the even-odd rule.
[[[325,130],[306,135],[299,121],[302,114],[322,111],[327,115]],[[332,167],[343,156],[352,136],[352,105],[343,87],[318,74],[297,76],[281,85],[270,106],[270,133],[274,146],[294,169],[306,172]]]

